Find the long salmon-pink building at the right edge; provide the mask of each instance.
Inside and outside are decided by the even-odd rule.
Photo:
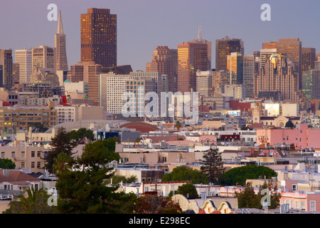
[[[257,129],[257,143],[276,145],[284,142],[294,144],[297,150],[304,148],[320,148],[320,129],[308,128],[306,123],[300,123],[295,129]]]

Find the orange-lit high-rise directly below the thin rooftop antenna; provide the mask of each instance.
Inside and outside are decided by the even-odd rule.
[[[178,44],[178,92],[196,91],[196,71],[208,71],[208,45],[205,43],[184,42]]]

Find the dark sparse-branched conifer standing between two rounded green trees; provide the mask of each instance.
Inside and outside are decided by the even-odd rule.
[[[203,166],[201,166],[201,172],[208,177],[209,182],[213,184],[218,183],[218,179],[225,168],[223,167],[221,152],[218,149],[210,149],[203,155]]]

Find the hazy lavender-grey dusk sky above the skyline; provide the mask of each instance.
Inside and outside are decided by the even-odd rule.
[[[156,46],[177,48],[198,36],[215,40],[241,38],[245,54],[262,43],[299,38],[302,47],[320,52],[319,0],[0,0],[0,49],[54,46],[58,21],[49,21],[49,4],[61,11],[69,66],[80,61],[80,14],[108,8],[117,14],[117,65],[145,71]],[[270,4],[270,21],[262,21],[262,4]]]

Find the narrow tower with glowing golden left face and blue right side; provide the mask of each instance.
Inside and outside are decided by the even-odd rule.
[[[232,52],[227,56],[227,70],[229,84],[243,83],[243,56],[242,53]]]

